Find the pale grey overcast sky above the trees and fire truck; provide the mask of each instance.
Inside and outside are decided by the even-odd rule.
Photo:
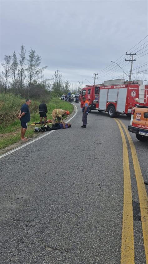
[[[125,53],[140,50],[134,56],[132,79],[138,66],[141,78],[148,79],[147,1],[5,0],[0,3],[1,61],[13,51],[19,57],[23,44],[26,56],[30,48],[35,49],[42,58],[42,66],[48,66],[44,77],[51,78],[58,69],[73,86],[78,81],[85,86],[89,84],[85,79],[93,83],[95,72],[96,83],[122,78],[123,71],[111,61],[116,61],[129,75],[131,63],[125,62],[125,58],[130,56]]]

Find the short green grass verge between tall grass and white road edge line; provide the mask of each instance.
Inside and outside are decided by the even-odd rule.
[[[21,105],[19,106],[19,108]],[[47,103],[47,119],[52,119],[52,110],[56,108],[61,108],[63,110],[68,110],[70,113],[73,111],[73,105],[71,103],[67,103],[65,101],[60,100],[59,98],[52,98],[49,103]],[[65,117],[66,118],[66,117]],[[25,136],[28,138],[34,135],[34,126],[31,126],[33,122],[39,122],[40,115],[39,112],[32,113],[31,111],[31,121],[28,122],[28,128],[26,131]],[[21,127],[20,127],[20,120],[16,120],[12,122],[12,124],[2,124],[0,126],[0,149],[3,149],[7,146],[10,146],[18,141],[21,138]]]

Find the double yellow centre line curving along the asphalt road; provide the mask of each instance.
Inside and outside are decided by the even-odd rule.
[[[118,119],[119,120],[119,119]],[[122,143],[123,143],[123,170],[124,170],[124,205],[123,205],[123,224],[122,224],[122,243],[121,243],[121,263],[135,263],[134,261],[134,230],[133,230],[133,208],[132,208],[132,192],[131,192],[131,177],[129,168],[128,149],[126,138],[122,127],[124,128],[131,147],[131,155],[135,170],[140,210],[143,231],[143,241],[145,248],[146,263],[148,263],[148,198],[144,185],[143,176],[141,173],[136,149],[129,135],[126,126],[115,119],[119,126]],[[122,127],[121,127],[122,125]]]

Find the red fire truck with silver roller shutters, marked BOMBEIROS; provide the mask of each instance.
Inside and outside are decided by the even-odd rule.
[[[140,80],[134,82],[125,82],[124,79],[109,80],[104,84],[87,85],[80,92],[80,100],[85,96],[89,101],[90,112],[91,110],[108,112],[110,117],[130,115],[135,98],[139,98],[140,105],[148,106],[148,86],[141,84]]]

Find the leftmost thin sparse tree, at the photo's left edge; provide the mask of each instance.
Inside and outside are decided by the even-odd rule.
[[[4,56],[4,61],[5,62],[1,62],[1,65],[4,68],[4,71],[2,71],[2,75],[5,78],[5,92],[6,92],[6,90],[7,90],[7,82],[8,82],[9,77],[11,76],[11,67],[10,67],[11,55],[5,55]]]

